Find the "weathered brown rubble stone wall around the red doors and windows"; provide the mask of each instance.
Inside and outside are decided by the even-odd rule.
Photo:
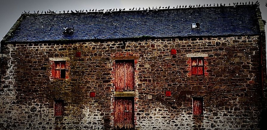
[[[0,128],[112,129],[112,55],[129,53],[138,54],[136,129],[260,129],[259,47],[259,36],[4,44]],[[190,55],[204,55],[204,76],[190,75]],[[68,79],[51,78],[53,58],[69,59]],[[203,115],[192,97],[203,97]]]

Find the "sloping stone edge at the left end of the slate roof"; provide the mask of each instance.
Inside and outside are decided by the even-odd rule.
[[[21,21],[27,14],[21,14],[21,16],[18,18],[18,20],[15,22],[15,24],[10,28],[10,30],[7,32],[7,34],[4,36],[4,38],[1,40],[1,43],[4,43],[5,41],[9,40],[12,37],[12,34],[17,30],[18,26],[21,24]]]

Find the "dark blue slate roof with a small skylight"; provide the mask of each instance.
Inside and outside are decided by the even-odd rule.
[[[8,42],[260,34],[256,5],[121,11],[24,14]],[[199,22],[200,29],[191,29]],[[63,28],[73,27],[72,35]],[[4,38],[4,39],[5,39]]]

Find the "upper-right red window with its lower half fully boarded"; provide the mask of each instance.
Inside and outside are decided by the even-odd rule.
[[[204,75],[204,57],[191,58],[192,75]]]

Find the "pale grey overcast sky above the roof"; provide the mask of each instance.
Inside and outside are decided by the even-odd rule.
[[[267,0],[259,0],[260,10],[263,19],[267,20],[267,7],[265,3]],[[21,16],[21,13],[30,10],[31,13],[37,10],[86,10],[86,9],[111,9],[111,8],[125,8],[128,10],[133,7],[159,7],[159,6],[177,6],[177,5],[196,5],[196,4],[212,4],[225,3],[228,5],[232,0],[7,0],[1,1],[0,4],[0,40],[13,26],[15,21]],[[249,2],[249,1],[238,1]],[[253,1],[254,3],[256,1]],[[266,31],[267,27],[265,27]]]

